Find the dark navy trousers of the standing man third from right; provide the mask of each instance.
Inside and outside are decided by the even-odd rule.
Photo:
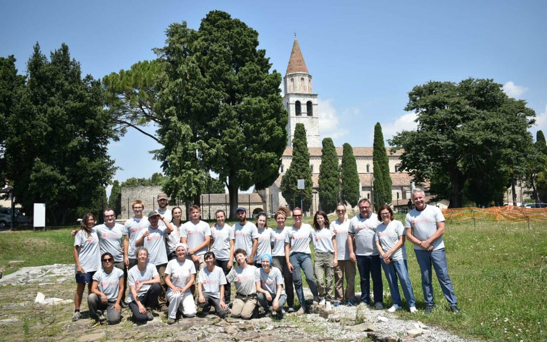
[[[370,277],[373,279],[374,302],[382,303],[383,284],[380,255],[357,256],[357,268],[361,277],[361,302],[370,302]]]

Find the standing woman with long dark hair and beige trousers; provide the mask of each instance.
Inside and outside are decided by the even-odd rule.
[[[313,273],[317,281],[317,292],[321,301],[319,305],[333,300],[334,267],[338,265],[336,255],[336,234],[329,228],[329,218],[324,211],[317,211],[313,216],[313,230],[311,232],[315,260]],[[323,276],[325,279],[323,279]]]

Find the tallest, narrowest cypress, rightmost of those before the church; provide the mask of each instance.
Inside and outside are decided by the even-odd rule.
[[[376,123],[374,126],[373,145],[374,165],[374,207],[391,202],[391,177],[389,177],[389,161],[386,147],[383,143],[382,126]]]

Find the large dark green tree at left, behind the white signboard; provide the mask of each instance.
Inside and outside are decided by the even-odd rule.
[[[66,44],[49,61],[36,44],[27,74],[6,123],[6,173],[19,204],[32,208],[43,202],[50,223],[65,224],[74,219],[77,207],[102,198],[95,189],[113,176],[114,162],[107,154],[112,124],[103,109],[100,82],[82,77]]]

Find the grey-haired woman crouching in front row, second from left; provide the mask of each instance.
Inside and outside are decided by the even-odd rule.
[[[138,323],[152,321],[152,309],[158,306],[161,280],[156,266],[148,262],[148,250],[138,247],[137,264],[127,272],[129,308]]]

